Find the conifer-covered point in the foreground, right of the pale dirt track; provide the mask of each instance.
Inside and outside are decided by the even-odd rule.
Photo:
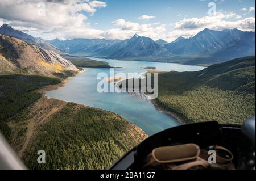
[[[24,153],[30,169],[108,169],[146,138],[141,129],[120,116],[68,103],[40,125],[35,144]],[[46,164],[36,161],[45,150]]]

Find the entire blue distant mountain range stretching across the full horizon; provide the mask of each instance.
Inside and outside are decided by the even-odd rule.
[[[151,60],[181,64],[214,64],[232,58],[255,55],[255,32],[238,29],[215,31],[205,28],[190,38],[179,37],[171,43],[134,35],[126,40],[71,39],[43,40],[14,30],[7,24],[0,33],[14,36],[46,50],[74,56]]]

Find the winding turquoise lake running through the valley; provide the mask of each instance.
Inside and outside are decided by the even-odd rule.
[[[199,71],[202,66],[190,66],[147,61],[118,61],[93,58],[98,61],[109,62],[110,66],[122,67],[115,69],[115,73],[146,73],[145,67],[154,66],[161,71]],[[148,135],[179,125],[174,117],[156,110],[150,100],[129,93],[99,93],[97,85],[98,73],[109,75],[109,68],[85,68],[83,73],[68,78],[63,87],[46,92],[49,98],[64,100],[86,106],[101,108],[118,113],[127,121],[138,125]]]

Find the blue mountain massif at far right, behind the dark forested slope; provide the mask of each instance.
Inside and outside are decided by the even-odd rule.
[[[238,29],[214,31],[205,28],[189,39],[179,38],[164,47],[176,55],[225,59],[243,57],[255,54],[255,33]]]

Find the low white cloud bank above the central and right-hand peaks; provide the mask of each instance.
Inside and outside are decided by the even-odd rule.
[[[229,20],[229,19],[236,20]],[[242,31],[254,31],[255,32],[255,18],[240,19],[241,16],[234,12],[222,12],[219,11],[215,16],[203,16],[202,18],[184,18],[174,24],[174,30],[167,32],[164,24],[148,23],[139,24],[125,19],[118,19],[112,22],[115,28],[108,30],[101,34],[104,37],[110,39],[126,39],[133,36],[135,33],[142,36],[148,36],[152,39],[164,39],[167,41],[173,41],[179,36],[191,37],[195,36],[199,31],[204,28],[210,28],[212,30],[224,30],[238,28]],[[239,20],[238,20],[239,19]]]

